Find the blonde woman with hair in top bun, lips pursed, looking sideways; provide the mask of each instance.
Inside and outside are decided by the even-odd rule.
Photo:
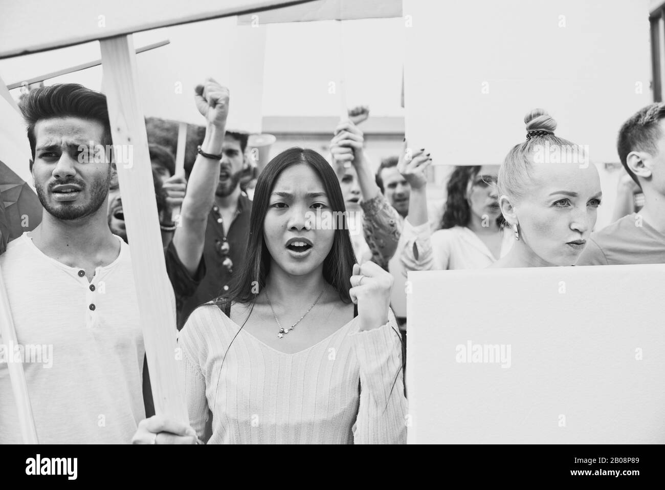
[[[524,122],[527,139],[508,152],[497,184],[515,242],[491,267],[572,266],[596,224],[598,170],[581,146],[555,135],[557,122],[543,109]]]

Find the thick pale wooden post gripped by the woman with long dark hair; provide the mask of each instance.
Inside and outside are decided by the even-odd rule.
[[[100,45],[114,148],[131,145],[133,151],[129,162],[118,161],[116,156],[116,166],[155,411],[157,415],[189,424],[184,393],[178,382],[176,318],[170,300],[173,292],[164,264],[134,43],[132,35],[121,35],[103,39]]]

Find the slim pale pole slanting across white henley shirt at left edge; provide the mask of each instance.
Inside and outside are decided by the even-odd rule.
[[[28,385],[25,382],[25,373],[23,372],[23,362],[21,358],[13,357],[13,349],[10,346],[17,346],[19,341],[16,337],[16,330],[14,328],[14,320],[11,318],[11,310],[9,310],[9,298],[7,298],[7,290],[5,290],[5,282],[2,278],[2,271],[0,270],[0,337],[7,349],[7,356],[12,356],[7,359],[7,371],[9,371],[9,380],[11,381],[11,389],[14,393],[16,407],[19,411],[19,426],[21,428],[21,435],[23,435],[23,443],[37,444],[37,429],[35,429],[35,417],[33,416],[33,408],[30,404],[30,397],[28,395]]]

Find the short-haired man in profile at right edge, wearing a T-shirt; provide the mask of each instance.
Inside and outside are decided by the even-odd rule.
[[[593,233],[577,265],[665,263],[665,103],[644,107],[624,122],[616,146],[644,193],[644,207]]]

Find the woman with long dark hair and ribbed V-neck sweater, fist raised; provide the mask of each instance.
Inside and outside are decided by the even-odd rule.
[[[355,264],[343,212],[321,155],[273,158],[257,180],[245,268],[180,332],[192,427],[151,417],[135,442],[406,442],[392,277]]]

